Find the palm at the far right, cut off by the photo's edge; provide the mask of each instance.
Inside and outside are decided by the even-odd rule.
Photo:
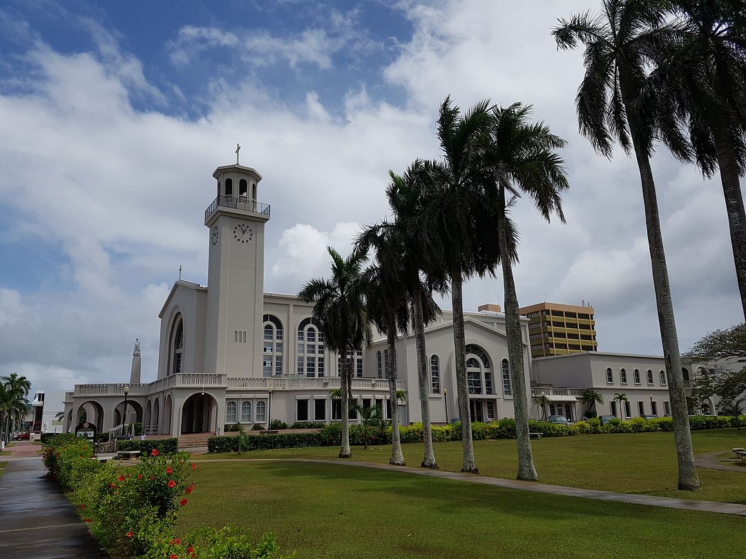
[[[742,1],[677,0],[683,21],[674,52],[651,75],[649,95],[688,127],[702,174],[720,180],[746,317],[746,212],[739,174],[746,167],[746,16]],[[665,131],[665,130],[664,130]]]

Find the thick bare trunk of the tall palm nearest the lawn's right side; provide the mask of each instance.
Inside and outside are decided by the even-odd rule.
[[[676,332],[676,320],[674,319],[674,304],[671,301],[671,285],[668,283],[668,266],[665,261],[665,250],[663,250],[663,237],[660,232],[660,217],[653,170],[647,151],[639,145],[636,113],[633,104],[628,99],[630,99],[630,95],[625,95],[624,107],[627,110],[627,122],[630,126],[630,136],[632,136],[637,166],[640,171],[640,182],[642,183],[645,227],[648,230],[648,247],[653,268],[658,323],[663,344],[665,370],[668,373],[668,394],[671,398],[671,416],[674,422],[674,439],[679,465],[678,487],[681,490],[700,490],[701,485],[695,468],[695,455],[692,449],[692,433],[689,431],[689,412],[686,408],[679,340]]]

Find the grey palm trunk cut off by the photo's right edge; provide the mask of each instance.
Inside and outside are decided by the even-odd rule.
[[[733,261],[736,263],[741,306],[746,318],[746,212],[741,194],[739,169],[736,165],[736,153],[733,151],[733,139],[730,137],[730,130],[724,124],[715,127],[715,151],[725,195],[730,244],[733,247]]]

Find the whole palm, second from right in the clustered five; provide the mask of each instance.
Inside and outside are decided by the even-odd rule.
[[[479,470],[474,462],[471,439],[462,286],[465,279],[489,271],[481,256],[486,251],[480,250],[480,245],[497,250],[494,238],[485,238],[474,231],[474,215],[480,211],[476,202],[477,184],[484,180],[482,145],[491,121],[488,107],[489,101],[481,101],[462,115],[460,108],[452,105],[450,98],[445,98],[440,107],[437,132],[443,157],[424,164],[432,189],[432,197],[423,208],[426,252],[432,256],[432,262],[437,263],[433,267],[447,274],[451,282],[456,388],[463,443],[461,471],[468,473],[479,473]]]

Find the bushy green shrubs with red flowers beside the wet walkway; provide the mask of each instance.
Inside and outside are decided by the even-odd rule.
[[[175,534],[178,511],[188,505],[196,484],[189,479],[196,464],[185,452],[164,455],[151,448],[137,464],[115,467],[96,460],[88,440],[58,435],[44,446],[44,464],[71,491],[93,534],[117,557],[207,559],[225,557],[225,549],[236,559],[287,557],[279,554],[272,534],[257,544],[242,531],[228,528],[184,538]]]

